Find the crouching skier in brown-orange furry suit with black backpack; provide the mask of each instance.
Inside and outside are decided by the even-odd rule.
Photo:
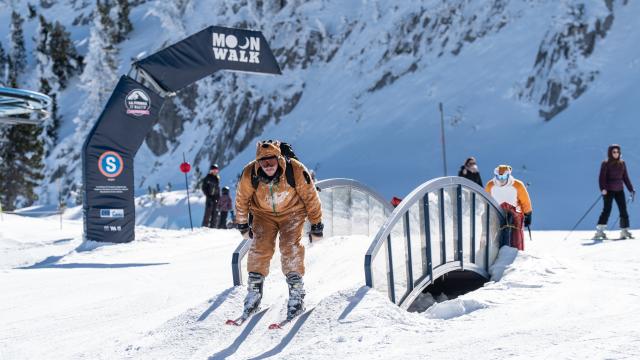
[[[253,215],[251,225],[249,212]],[[309,171],[298,160],[283,156],[279,141],[258,142],[256,160],[244,167],[236,191],[238,230],[245,239],[249,230],[254,236],[247,262],[244,318],[260,305],[278,233],[282,272],[289,286],[287,319],[304,311],[304,246],[300,241],[306,218],[312,224],[310,234],[321,238],[322,210]]]

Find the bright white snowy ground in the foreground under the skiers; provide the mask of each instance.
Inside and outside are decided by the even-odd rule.
[[[269,309],[242,328],[231,287],[237,232],[142,228],[129,244],[81,243],[81,224],[0,222],[0,358],[638,358],[640,241],[593,245],[534,232],[503,248],[483,288],[417,314],[362,287],[365,238],[308,248],[308,305],[282,331],[286,284],[272,261]]]

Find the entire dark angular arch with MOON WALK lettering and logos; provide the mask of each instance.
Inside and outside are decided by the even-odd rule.
[[[261,32],[210,26],[136,61],[134,77],[120,78],[82,148],[85,240],[135,239],[135,154],[165,98],[218,70],[281,74]]]

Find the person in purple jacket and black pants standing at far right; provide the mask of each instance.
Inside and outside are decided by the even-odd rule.
[[[604,208],[598,219],[594,239],[603,240],[607,238],[604,231],[607,229],[613,200],[618,204],[618,210],[620,211],[620,228],[622,229],[620,238],[632,239],[633,235],[629,232],[629,214],[627,213],[627,203],[625,202],[624,185],[631,192],[632,198],[635,197],[636,192],[633,189],[631,180],[629,180],[627,165],[622,160],[620,145],[610,145],[607,155],[608,159],[603,161],[600,166],[600,191],[602,192]]]

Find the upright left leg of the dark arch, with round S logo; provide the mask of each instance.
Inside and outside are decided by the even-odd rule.
[[[133,158],[163,101],[123,76],[89,133],[82,153],[87,240],[121,243],[135,238]]]

